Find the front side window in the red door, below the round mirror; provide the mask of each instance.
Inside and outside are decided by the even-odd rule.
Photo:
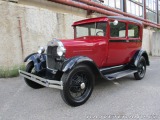
[[[110,23],[110,36],[111,37],[125,37],[126,36],[126,24],[123,22],[118,22],[114,25],[113,22]]]

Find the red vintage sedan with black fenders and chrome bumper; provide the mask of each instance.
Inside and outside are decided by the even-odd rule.
[[[74,39],[53,39],[47,48],[25,58],[26,70],[19,70],[32,88],[60,89],[71,106],[84,104],[95,80],[115,80],[134,74],[141,80],[149,65],[141,49],[143,25],[128,17],[108,16],[73,24]]]

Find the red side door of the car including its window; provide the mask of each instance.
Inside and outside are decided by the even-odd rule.
[[[110,36],[108,40],[108,59],[107,66],[116,66],[127,63],[127,24],[118,21],[115,25],[113,21],[109,25]]]

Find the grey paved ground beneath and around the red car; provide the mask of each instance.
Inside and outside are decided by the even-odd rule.
[[[150,60],[143,80],[101,80],[79,107],[66,105],[59,90],[34,90],[22,77],[0,79],[0,120],[160,120],[160,58]]]

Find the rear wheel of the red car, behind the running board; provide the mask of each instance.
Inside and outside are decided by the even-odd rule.
[[[134,77],[136,80],[141,80],[142,78],[144,78],[146,73],[146,60],[145,58],[142,56],[139,59],[138,65],[137,65],[137,72],[134,73]]]

